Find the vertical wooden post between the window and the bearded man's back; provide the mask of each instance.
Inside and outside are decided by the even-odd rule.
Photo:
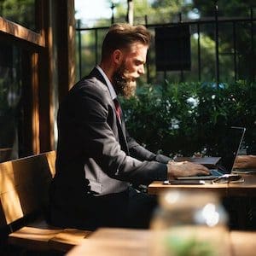
[[[53,26],[54,15],[52,14],[51,1],[38,1],[38,8],[43,9],[41,17],[38,17],[38,26],[41,27],[41,34],[45,38],[45,49],[39,51],[39,119],[40,119],[40,151],[46,152],[55,148],[54,141],[54,119],[55,107],[53,97],[54,73],[54,40]]]

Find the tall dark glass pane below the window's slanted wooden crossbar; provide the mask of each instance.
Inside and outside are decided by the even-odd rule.
[[[19,157],[20,53],[16,47],[0,44],[0,162]]]

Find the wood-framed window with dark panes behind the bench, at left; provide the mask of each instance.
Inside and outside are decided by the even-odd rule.
[[[42,54],[47,48],[44,31],[32,31],[36,24],[35,1],[0,1],[0,14],[4,16],[0,16],[0,162],[40,153],[42,120],[47,127],[42,134],[46,134],[45,144],[48,142],[48,108],[43,114],[39,108],[40,94],[49,90],[47,69],[43,79],[47,85],[43,87],[39,79],[48,67],[48,59]],[[41,26],[43,10],[37,17]],[[44,96],[44,102],[49,104],[49,96]]]

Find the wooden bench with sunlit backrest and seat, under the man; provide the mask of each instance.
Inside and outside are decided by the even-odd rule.
[[[90,235],[46,222],[55,151],[0,163],[0,233],[25,250],[67,252]],[[1,253],[0,253],[1,254]]]

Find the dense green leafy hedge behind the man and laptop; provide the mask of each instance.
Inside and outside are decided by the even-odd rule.
[[[256,84],[183,83],[144,85],[122,100],[126,128],[139,143],[170,156],[221,154],[227,127],[247,128],[244,147],[256,141]]]

